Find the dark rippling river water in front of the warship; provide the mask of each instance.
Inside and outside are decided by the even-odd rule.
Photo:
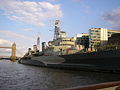
[[[120,74],[50,69],[0,60],[0,90],[59,90],[119,80]]]

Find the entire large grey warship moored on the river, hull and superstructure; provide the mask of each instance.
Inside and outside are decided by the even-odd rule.
[[[55,22],[54,33],[54,39],[48,42],[48,46],[45,42],[42,43],[41,53],[37,49],[39,45],[34,45],[34,51],[29,49],[19,63],[59,69],[120,73],[120,49],[99,48],[99,51],[88,52],[88,34],[82,34],[86,37],[84,45],[75,46],[76,39],[66,37],[66,32],[60,30],[59,20]]]

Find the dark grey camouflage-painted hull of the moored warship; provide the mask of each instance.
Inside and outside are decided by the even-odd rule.
[[[42,67],[120,73],[120,50],[21,59],[22,64]]]

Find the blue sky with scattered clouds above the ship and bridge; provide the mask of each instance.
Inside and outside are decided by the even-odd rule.
[[[0,0],[0,46],[17,45],[17,56],[37,43],[53,40],[54,22],[68,37],[90,28],[120,30],[120,0]],[[0,56],[11,50],[0,49]]]

